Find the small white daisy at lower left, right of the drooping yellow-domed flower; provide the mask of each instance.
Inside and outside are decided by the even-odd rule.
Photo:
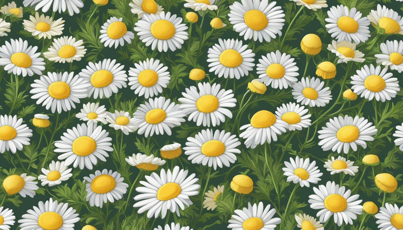
[[[43,175],[38,176],[38,180],[42,181],[42,186],[49,184],[49,186],[54,186],[56,184],[61,184],[62,181],[69,180],[73,174],[70,173],[71,168],[67,168],[64,162],[54,162],[49,164],[49,169],[42,168]]]

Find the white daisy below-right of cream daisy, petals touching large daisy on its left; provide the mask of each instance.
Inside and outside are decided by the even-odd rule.
[[[124,65],[116,63],[113,59],[104,59],[98,63],[89,62],[85,69],[79,73],[83,84],[91,84],[88,87],[88,97],[93,94],[96,98],[108,98],[119,89],[126,88],[127,75]]]

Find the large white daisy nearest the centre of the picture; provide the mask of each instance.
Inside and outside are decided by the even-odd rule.
[[[199,83],[197,88],[191,86],[186,88],[184,97],[178,99],[182,112],[189,115],[188,120],[196,122],[197,126],[210,127],[220,125],[225,121],[225,116],[232,118],[232,113],[226,107],[235,107],[237,99],[234,98],[232,90],[220,89],[221,85],[214,83]]]

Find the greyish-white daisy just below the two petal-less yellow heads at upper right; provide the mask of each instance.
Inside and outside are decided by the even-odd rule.
[[[323,87],[324,84],[319,78],[302,78],[301,81],[293,85],[292,94],[294,95],[294,99],[305,106],[324,107],[332,99],[330,88]]]

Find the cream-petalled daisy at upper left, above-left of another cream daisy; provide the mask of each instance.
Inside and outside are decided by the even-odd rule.
[[[64,20],[62,18],[53,21],[53,17],[41,15],[35,12],[35,17],[29,16],[29,20],[24,20],[24,29],[31,32],[32,36],[38,36],[39,39],[50,39],[52,36],[58,36],[63,33]]]

